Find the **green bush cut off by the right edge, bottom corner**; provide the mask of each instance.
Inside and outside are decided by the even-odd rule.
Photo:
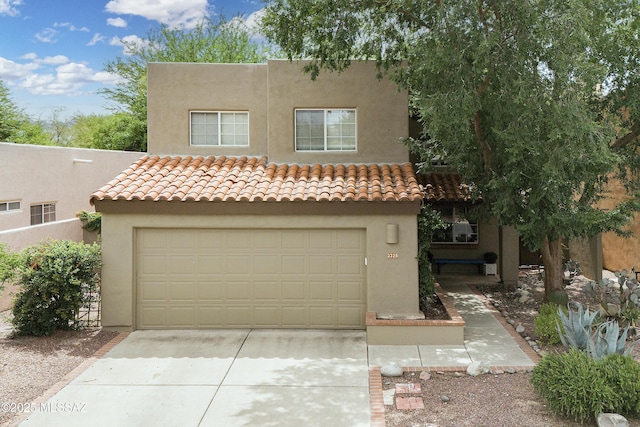
[[[605,408],[624,415],[640,415],[640,363],[629,356],[612,354],[600,360],[604,380],[618,397],[616,405]]]

